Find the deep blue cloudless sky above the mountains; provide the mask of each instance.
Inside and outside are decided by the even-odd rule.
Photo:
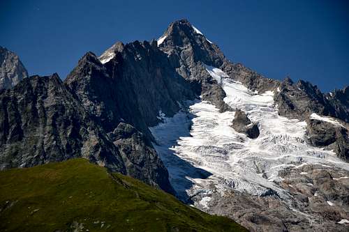
[[[6,1],[0,45],[30,75],[64,79],[85,52],[158,38],[187,18],[233,62],[266,77],[305,79],[322,91],[349,84],[349,1]]]

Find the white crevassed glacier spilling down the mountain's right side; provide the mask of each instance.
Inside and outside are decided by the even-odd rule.
[[[349,171],[349,164],[330,150],[314,148],[304,141],[306,123],[278,115],[272,91],[257,94],[235,82],[218,68],[206,66],[212,78],[221,83],[224,101],[246,111],[258,123],[260,136],[248,139],[230,127],[235,113],[220,113],[209,102],[186,102],[172,118],[150,130],[154,144],[170,173],[170,183],[179,198],[209,208],[211,192],[236,190],[251,196],[275,195],[292,206],[293,196],[282,187],[283,170],[296,170],[308,164]]]

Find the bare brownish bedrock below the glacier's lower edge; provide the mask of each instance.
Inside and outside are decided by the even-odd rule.
[[[292,202],[277,195],[252,196],[235,190],[213,191],[201,210],[225,215],[250,231],[348,231],[339,224],[349,217],[349,172],[309,164],[281,171],[277,185],[288,191]],[[198,199],[197,201],[200,201]]]

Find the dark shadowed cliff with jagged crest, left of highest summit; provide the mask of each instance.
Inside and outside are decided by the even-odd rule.
[[[151,139],[148,127],[159,122],[160,112],[173,116],[178,102],[193,100],[195,94],[155,41],[119,42],[111,49],[114,56],[105,64],[87,53],[65,84],[106,132],[125,121]]]

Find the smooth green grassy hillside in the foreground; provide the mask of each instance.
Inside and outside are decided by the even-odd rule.
[[[84,159],[0,171],[0,231],[245,231]]]

